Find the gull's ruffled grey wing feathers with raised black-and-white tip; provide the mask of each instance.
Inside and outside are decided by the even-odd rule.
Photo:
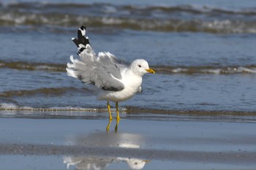
[[[78,29],[78,39],[72,38],[78,47],[80,59],[70,56],[71,63],[67,63],[67,74],[80,79],[86,84],[93,84],[102,90],[122,90],[121,71],[127,66],[122,64],[111,53],[94,53],[89,38],[86,36],[86,27]]]

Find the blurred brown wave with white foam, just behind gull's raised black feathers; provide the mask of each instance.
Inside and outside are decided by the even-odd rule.
[[[35,14],[0,15],[0,26],[114,26],[138,31],[206,32],[211,34],[256,34],[256,23],[244,20],[178,20],[88,17]],[[37,27],[38,29],[40,27]],[[33,28],[35,29],[35,28]]]

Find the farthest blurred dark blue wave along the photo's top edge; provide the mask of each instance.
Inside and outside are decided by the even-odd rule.
[[[1,7],[1,6],[0,6]],[[83,12],[97,12],[98,14],[104,13],[123,13],[123,14],[151,14],[151,12],[187,12],[192,14],[211,14],[214,15],[256,15],[255,7],[246,9],[227,9],[220,7],[210,7],[210,6],[200,6],[183,4],[177,6],[167,6],[167,5],[118,5],[110,3],[93,3],[93,4],[76,4],[76,3],[50,3],[50,2],[10,2],[8,4],[2,5],[3,9],[18,9],[19,11],[29,11],[29,12],[71,12],[79,13]],[[69,9],[69,11],[67,11]],[[72,10],[71,10],[72,9]],[[86,11],[85,11],[86,9]],[[124,12],[125,11],[125,12]]]

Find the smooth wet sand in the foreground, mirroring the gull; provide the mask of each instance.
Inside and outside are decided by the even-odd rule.
[[[121,114],[106,131],[104,113],[22,112],[0,111],[0,169],[256,168],[254,116]]]

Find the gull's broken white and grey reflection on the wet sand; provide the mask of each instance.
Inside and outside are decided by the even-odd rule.
[[[143,169],[145,164],[149,162],[145,159],[132,158],[132,155],[127,157],[125,151],[122,150],[122,148],[139,149],[144,143],[143,136],[139,134],[99,132],[86,137],[76,136],[69,139],[69,143],[85,147],[102,147],[102,152],[104,152],[104,148],[107,147],[120,148],[120,150],[118,150],[120,152],[116,152],[116,156],[102,156],[103,154],[95,155],[93,152],[91,155],[67,156],[64,157],[64,163],[67,165],[67,169],[69,169],[70,166],[75,166],[76,169],[100,170],[114,163],[127,163],[129,169]]]

